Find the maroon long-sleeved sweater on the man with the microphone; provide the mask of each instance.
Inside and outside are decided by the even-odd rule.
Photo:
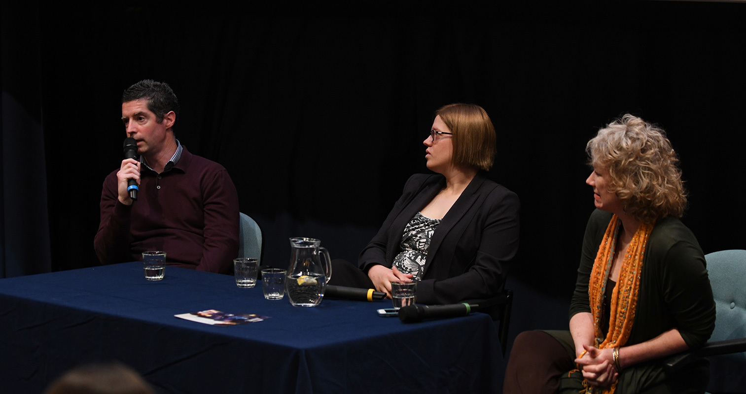
[[[142,260],[163,250],[169,265],[231,273],[238,255],[238,194],[228,171],[184,147],[171,171],[142,166],[131,206],[119,203],[116,172],[104,179],[101,223],[93,245],[102,264]]]

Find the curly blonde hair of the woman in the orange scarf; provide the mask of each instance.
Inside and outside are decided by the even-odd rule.
[[[608,191],[644,223],[681,217],[686,190],[671,142],[661,128],[634,115],[607,124],[586,145],[589,164],[609,171]]]

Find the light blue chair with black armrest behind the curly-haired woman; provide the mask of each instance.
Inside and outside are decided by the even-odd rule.
[[[675,371],[693,358],[709,357],[710,393],[746,393],[746,250],[704,257],[715,297],[715,331],[703,348],[672,356],[664,366]]]

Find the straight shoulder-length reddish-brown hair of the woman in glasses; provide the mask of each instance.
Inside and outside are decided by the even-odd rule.
[[[448,130],[454,133],[452,162],[461,167],[475,167],[484,171],[495,161],[495,127],[489,115],[475,104],[448,104],[435,112]]]

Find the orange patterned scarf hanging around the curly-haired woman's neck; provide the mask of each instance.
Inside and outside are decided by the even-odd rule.
[[[591,279],[588,285],[588,296],[593,314],[593,330],[595,332],[595,346],[598,349],[624,346],[632,332],[635,322],[635,311],[637,308],[637,296],[640,288],[640,273],[642,272],[642,261],[645,258],[645,247],[648,246],[648,238],[653,231],[653,224],[641,223],[635,235],[627,247],[624,260],[621,263],[621,271],[617,279],[616,287],[611,297],[611,313],[609,314],[609,332],[601,332],[601,322],[604,319],[604,294],[606,293],[606,282],[614,262],[614,252],[617,235],[621,228],[621,220],[614,215],[606,227],[604,239],[598,247],[598,254],[593,263]],[[588,387],[586,393],[614,393],[616,389],[614,382],[609,387]]]

